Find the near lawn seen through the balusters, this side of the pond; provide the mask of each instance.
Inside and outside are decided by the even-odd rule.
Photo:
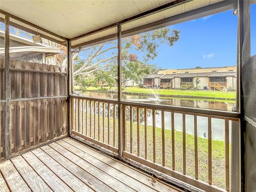
[[[89,114],[87,116],[87,135],[90,135]],[[94,135],[94,123],[92,115],[92,137]],[[81,118],[82,119],[82,118]],[[85,116],[84,116],[85,119]],[[104,141],[103,138],[103,124],[102,117],[100,117],[100,141],[108,143],[108,118],[105,118]],[[82,121],[81,121],[82,122]],[[81,123],[82,124],[82,123]],[[73,124],[73,127],[75,123]],[[86,125],[84,120],[84,126]],[[115,128],[115,147],[118,146],[118,130],[117,119]],[[126,150],[130,152],[130,121],[126,122]],[[85,128],[80,130],[86,134]],[[110,145],[113,146],[114,141],[114,126],[113,118],[110,118]],[[148,159],[153,161],[153,129],[148,126]],[[137,155],[137,123],[133,123],[133,154]],[[145,158],[145,129],[144,125],[140,125],[140,156]],[[182,159],[183,159],[183,138],[182,132],[175,131],[175,170],[182,174]],[[95,117],[95,139],[98,140],[98,116]],[[166,167],[172,169],[172,138],[171,130],[165,130],[165,154]],[[162,164],[162,129],[156,128],[156,163]],[[198,173],[199,180],[208,182],[208,140],[198,137]],[[186,174],[195,178],[195,143],[194,135],[186,134]],[[225,142],[212,141],[212,182],[213,185],[225,188]]]

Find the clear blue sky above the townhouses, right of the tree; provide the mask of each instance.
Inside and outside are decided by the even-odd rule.
[[[237,15],[226,11],[170,26],[180,39],[158,47],[149,61],[163,69],[233,66],[237,62]],[[256,4],[251,6],[251,54],[256,54]]]

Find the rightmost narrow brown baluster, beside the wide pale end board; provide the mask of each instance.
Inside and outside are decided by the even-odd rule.
[[[226,190],[229,191],[229,120],[225,118]]]

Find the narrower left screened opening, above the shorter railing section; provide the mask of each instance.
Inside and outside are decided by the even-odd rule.
[[[97,37],[89,36],[84,40],[85,45],[73,46],[71,52],[75,94],[117,99],[117,36],[114,36],[93,44],[87,41]]]

